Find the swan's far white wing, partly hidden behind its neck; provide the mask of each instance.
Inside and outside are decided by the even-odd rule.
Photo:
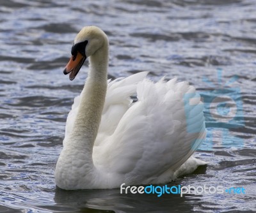
[[[96,146],[103,141],[103,138],[113,134],[118,122],[132,103],[131,96],[136,94],[138,82],[143,80],[147,74],[147,71],[143,71],[127,78],[116,78],[113,81],[108,80],[108,90],[102,112],[102,119],[95,140]],[[74,104],[68,113],[63,146],[65,145],[68,135],[72,132],[80,100],[80,95],[74,98]]]

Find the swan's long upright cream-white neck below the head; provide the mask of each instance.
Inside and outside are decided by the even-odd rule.
[[[88,163],[92,163],[93,143],[98,133],[108,80],[108,42],[90,56],[88,78],[81,92],[76,120],[70,135],[70,143],[86,149]]]

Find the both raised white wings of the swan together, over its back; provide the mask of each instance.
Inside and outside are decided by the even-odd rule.
[[[126,184],[163,183],[205,138],[204,105],[195,87],[173,78],[156,84],[146,72],[109,82],[93,163]],[[137,94],[132,103],[130,96]],[[72,129],[79,98],[68,115]],[[64,142],[65,143],[65,140]],[[115,175],[114,175],[115,176]],[[118,181],[116,181],[116,184]],[[116,186],[118,187],[118,186]]]

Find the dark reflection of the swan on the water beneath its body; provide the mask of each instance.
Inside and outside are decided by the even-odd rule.
[[[182,209],[182,212],[191,212],[193,206],[186,205],[188,199],[198,200],[196,197],[180,198],[174,195],[163,195],[161,198],[156,195],[120,195],[120,189],[72,192],[57,189],[54,197],[57,204],[67,202],[69,206],[78,207],[80,210],[90,208],[108,212],[170,212],[179,209]],[[81,206],[77,206],[77,203]]]

